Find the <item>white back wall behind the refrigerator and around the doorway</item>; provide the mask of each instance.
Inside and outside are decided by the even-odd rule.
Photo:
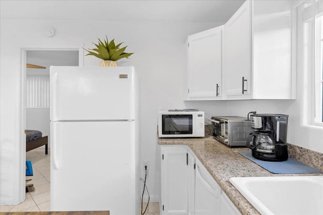
[[[223,23],[188,22],[105,22],[6,20],[0,23],[1,38],[1,171],[2,204],[16,204],[19,196],[20,78],[21,48],[93,48],[92,42],[105,34],[116,42],[125,42],[127,52],[135,52],[119,65],[134,65],[141,81],[141,160],[150,161],[147,187],[150,196],[159,195],[159,160],[156,160],[156,124],[159,108],[184,108],[182,88],[185,46],[188,35]],[[52,26],[53,37],[43,31]],[[84,65],[99,65],[93,56],[84,57]],[[36,63],[35,63],[36,64]],[[23,127],[23,126],[22,126]],[[23,140],[22,140],[23,141]],[[142,175],[143,177],[143,175]]]

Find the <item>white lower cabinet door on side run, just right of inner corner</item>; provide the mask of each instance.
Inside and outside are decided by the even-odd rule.
[[[204,167],[196,163],[195,215],[220,214],[221,189],[217,182],[205,171]]]

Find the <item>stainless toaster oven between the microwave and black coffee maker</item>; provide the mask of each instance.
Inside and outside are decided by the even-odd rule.
[[[212,116],[212,136],[229,147],[246,147],[251,122],[240,116]]]

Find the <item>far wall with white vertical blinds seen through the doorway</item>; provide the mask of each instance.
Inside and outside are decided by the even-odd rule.
[[[78,66],[78,50],[27,50],[26,62],[44,68],[26,69],[26,129],[39,130],[48,136],[49,128],[49,67]],[[36,67],[36,66],[35,66]]]

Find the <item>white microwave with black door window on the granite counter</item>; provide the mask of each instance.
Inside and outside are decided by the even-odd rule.
[[[203,111],[159,111],[159,137],[204,136]]]

